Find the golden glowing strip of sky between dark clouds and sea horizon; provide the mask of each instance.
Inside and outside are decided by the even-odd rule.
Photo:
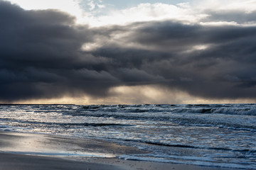
[[[183,91],[150,86],[117,86],[109,90],[110,96],[63,96],[61,98],[41,98],[14,101],[17,104],[201,104],[201,103],[255,103],[255,99],[210,99],[195,97]]]

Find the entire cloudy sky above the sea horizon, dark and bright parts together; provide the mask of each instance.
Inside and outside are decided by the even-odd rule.
[[[256,0],[0,0],[0,103],[255,103]]]

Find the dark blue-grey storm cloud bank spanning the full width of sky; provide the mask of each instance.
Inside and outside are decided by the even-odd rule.
[[[235,19],[231,14],[211,19]],[[256,21],[256,13],[236,14],[238,23]],[[0,1],[0,38],[0,101],[104,97],[113,86],[146,84],[203,98],[256,98],[255,26],[161,21],[88,28],[67,13]],[[82,51],[90,42],[104,43]],[[202,45],[208,48],[195,50]]]

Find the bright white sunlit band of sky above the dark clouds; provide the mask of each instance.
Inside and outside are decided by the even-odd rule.
[[[141,3],[133,7],[113,8],[114,4],[105,5],[104,1],[89,0],[10,0],[26,10],[57,9],[75,16],[77,24],[87,24],[90,27],[118,25],[142,21],[177,21],[186,24],[202,26],[236,26],[235,21],[203,21],[208,18],[208,12],[255,11],[255,0],[251,1],[220,1],[220,0],[187,0],[179,4]],[[97,10],[95,9],[97,6]],[[247,23],[252,25],[254,23]]]

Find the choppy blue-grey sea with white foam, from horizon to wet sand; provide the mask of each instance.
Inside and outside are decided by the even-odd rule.
[[[0,105],[0,130],[143,149],[117,159],[256,169],[256,104]]]

